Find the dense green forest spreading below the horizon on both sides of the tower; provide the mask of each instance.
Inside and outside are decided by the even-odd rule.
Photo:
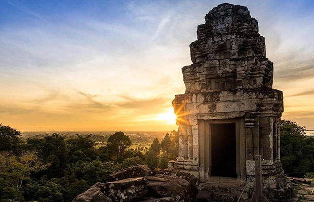
[[[313,177],[314,138],[292,121],[283,120],[280,127],[285,172]],[[178,156],[176,131],[161,142],[154,138],[145,151],[131,145],[121,131],[96,146],[92,135],[65,138],[52,133],[23,139],[18,130],[0,124],[0,201],[69,202],[96,182],[107,182],[119,169],[135,164],[167,168]]]

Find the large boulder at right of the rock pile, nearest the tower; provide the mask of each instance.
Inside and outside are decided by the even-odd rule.
[[[173,197],[174,201],[190,201],[190,196],[184,190],[184,187],[174,180],[160,178],[160,177],[146,177],[148,184],[149,196],[156,198]]]

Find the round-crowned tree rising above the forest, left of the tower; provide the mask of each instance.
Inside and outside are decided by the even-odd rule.
[[[123,161],[123,159],[121,159],[120,157],[124,155],[126,149],[129,148],[131,144],[132,142],[129,136],[119,131],[110,135],[106,147],[112,160],[120,163]]]

